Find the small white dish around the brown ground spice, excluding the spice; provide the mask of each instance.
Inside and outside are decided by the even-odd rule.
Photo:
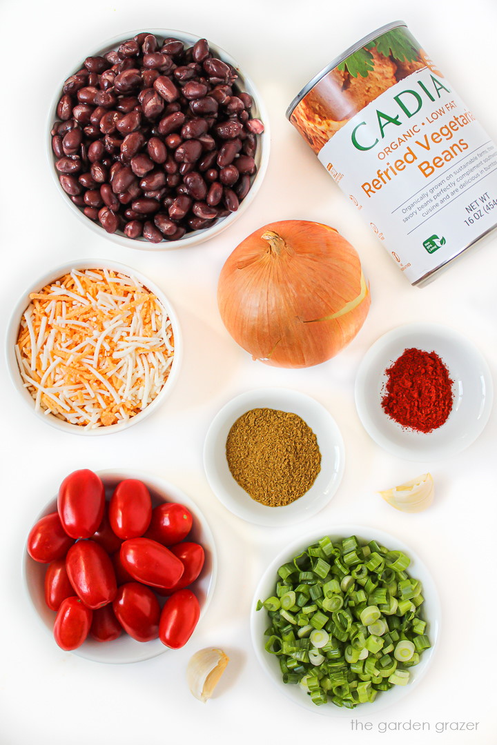
[[[253,408],[272,408],[296,413],[317,437],[321,470],[302,497],[284,507],[268,507],[252,499],[232,477],[226,458],[229,430],[239,416]],[[302,522],[323,509],[335,494],[344,475],[344,440],[332,415],[315,399],[288,388],[260,388],[232,399],[215,416],[203,450],[207,481],[230,512],[248,522],[279,526]]]

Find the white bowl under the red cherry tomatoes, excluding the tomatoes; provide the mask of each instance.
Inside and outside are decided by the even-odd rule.
[[[200,576],[191,584],[191,589],[200,603],[200,623],[203,615],[205,615],[206,610],[209,607],[218,571],[218,559],[214,537],[212,536],[209,523],[206,521],[200,508],[190,497],[182,492],[181,489],[174,486],[174,484],[170,484],[168,481],[164,481],[162,478],[151,476],[141,471],[127,469],[119,471],[97,471],[97,473],[102,481],[104,481],[107,499],[110,498],[110,495],[112,495],[112,492],[119,481],[122,481],[125,478],[137,478],[148,486],[148,489],[151,492],[153,507],[161,502],[178,502],[187,507],[191,512],[191,515],[193,516],[193,525],[191,527],[191,532],[189,533],[189,540],[200,543],[200,545],[203,546],[206,557]],[[48,502],[45,509],[39,513],[36,519],[34,519],[33,524],[43,516],[56,511],[57,497]],[[22,577],[28,601],[34,609],[37,618],[42,621],[43,627],[45,627],[51,636],[49,643],[53,644],[54,647],[58,649],[53,638],[54,620],[57,614],[49,609],[45,604],[44,578],[47,566],[48,564],[41,564],[34,561],[34,559],[31,559],[29,556],[28,551],[24,551]],[[163,603],[164,600],[165,597],[162,598],[162,600],[159,598],[159,602]],[[74,654],[84,657],[85,659],[93,660],[94,662],[110,662],[118,664],[125,662],[141,662],[144,659],[156,657],[157,655],[167,651],[169,651],[168,647],[165,647],[159,639],[141,642],[136,641],[129,635],[123,633],[113,641],[103,642],[95,641],[95,639],[89,636],[80,647],[74,650]]]

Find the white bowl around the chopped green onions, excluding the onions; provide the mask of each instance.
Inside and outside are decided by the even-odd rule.
[[[402,551],[411,559],[411,563],[407,570],[408,574],[417,580],[421,580],[422,595],[425,598],[425,602],[422,606],[424,609],[423,617],[425,618],[425,621],[427,621],[426,633],[430,639],[431,647],[420,655],[420,662],[418,665],[409,668],[409,671],[411,671],[411,679],[408,682],[408,685],[394,685],[389,691],[379,691],[376,700],[374,700],[373,703],[361,703],[352,709],[341,708],[335,706],[333,703],[326,703],[322,706],[317,706],[312,703],[311,698],[308,697],[299,685],[289,685],[283,682],[278,657],[266,652],[265,650],[265,642],[268,639],[265,637],[265,630],[270,625],[268,613],[265,609],[256,611],[258,600],[264,601],[271,595],[275,595],[276,581],[278,580],[278,568],[285,564],[285,562],[291,561],[291,559],[298,556],[302,551],[305,551],[308,546],[317,543],[317,541],[323,538],[323,536],[329,536],[332,542],[348,536],[356,536],[359,542],[363,544],[371,540],[376,540],[380,545],[384,545],[390,551]],[[250,610],[250,633],[252,635],[253,648],[260,665],[262,665],[262,669],[270,677],[276,687],[279,688],[279,691],[282,694],[286,694],[286,696],[294,703],[303,706],[308,711],[314,711],[314,714],[323,714],[327,717],[350,718],[357,716],[374,716],[378,711],[381,711],[382,708],[397,703],[403,697],[408,695],[415,685],[420,683],[422,676],[425,675],[428,665],[433,658],[434,650],[440,635],[440,616],[440,600],[433,578],[420,557],[418,557],[411,548],[406,546],[402,541],[399,541],[399,539],[391,536],[389,533],[384,533],[382,530],[376,530],[376,528],[373,527],[364,527],[355,524],[333,525],[328,531],[323,527],[323,530],[320,530],[319,533],[314,531],[314,533],[311,533],[308,536],[300,537],[291,545],[285,546],[278,556],[273,559],[265,573],[262,575],[253,596],[252,608]]]

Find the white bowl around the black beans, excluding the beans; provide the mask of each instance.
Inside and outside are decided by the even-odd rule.
[[[180,39],[180,41],[189,44],[194,45],[195,42],[197,42],[198,39],[201,37],[198,37],[194,34],[188,34],[185,31],[175,31],[174,29],[168,29],[168,28],[142,28],[138,31],[129,31],[127,34],[119,34],[117,37],[113,37],[112,39],[107,39],[107,41],[101,42],[96,48],[93,48],[92,50],[88,51],[87,57],[95,57],[97,55],[106,54],[107,51],[110,51],[112,49],[115,49],[120,45],[122,42],[126,41],[127,39],[132,39],[136,34],[142,34],[143,32],[148,31],[150,34],[154,34],[159,37],[174,37],[176,39]],[[80,220],[83,224],[85,224],[87,227],[92,229],[93,232],[97,233],[101,237],[104,236],[108,238],[110,241],[113,241],[115,244],[119,244],[121,246],[125,246],[127,248],[135,248],[140,250],[146,250],[146,251],[163,251],[163,250],[171,250],[176,248],[186,248],[189,246],[194,246],[200,243],[203,243],[203,241],[207,241],[209,238],[214,238],[216,235],[219,235],[223,230],[227,229],[232,223],[235,222],[241,215],[244,214],[244,212],[247,211],[250,204],[253,202],[254,198],[256,197],[257,192],[259,191],[259,188],[262,186],[262,181],[264,180],[265,173],[268,169],[268,162],[269,162],[269,148],[270,148],[270,131],[269,131],[269,117],[268,112],[265,109],[265,105],[262,101],[261,96],[259,95],[259,92],[257,91],[256,87],[254,86],[252,80],[250,80],[250,77],[247,77],[244,72],[241,71],[241,69],[238,66],[238,63],[226,52],[224,49],[219,47],[218,45],[212,44],[212,42],[209,41],[209,48],[215,54],[216,57],[219,57],[221,60],[224,60],[224,62],[228,63],[232,67],[236,69],[236,72],[238,73],[238,80],[236,81],[238,88],[243,91],[249,93],[253,98],[253,107],[251,109],[251,115],[252,118],[258,118],[261,119],[265,126],[265,131],[258,136],[258,145],[257,145],[257,151],[256,151],[256,165],[257,165],[257,171],[255,176],[253,177],[253,183],[250,187],[250,191],[248,192],[247,196],[244,197],[244,199],[241,201],[240,206],[238,207],[236,212],[232,212],[230,215],[228,215],[226,218],[221,218],[220,220],[216,221],[214,225],[212,225],[209,228],[205,228],[203,230],[195,230],[193,232],[186,233],[186,235],[181,238],[179,241],[162,241],[161,243],[154,244],[150,241],[147,241],[146,238],[127,238],[126,235],[124,235],[123,232],[118,231],[115,233],[108,233],[104,230],[104,228],[100,225],[100,223],[95,223],[94,221],[90,220],[89,218],[84,215],[83,210],[80,209],[75,205],[75,203],[72,202],[71,198],[68,194],[63,190],[63,188],[60,186],[59,177],[57,174],[57,171],[55,170],[55,162],[57,161],[56,156],[54,155],[54,152],[51,147],[51,128],[54,125],[54,121],[58,121],[57,117],[57,104],[60,101],[60,97],[62,95],[62,89],[65,81],[71,76],[74,75],[75,72],[77,72],[79,69],[81,69],[81,65],[83,63],[83,60],[81,60],[81,63],[79,65],[76,65],[72,67],[72,69],[65,75],[63,80],[61,80],[60,85],[57,87],[57,93],[54,95],[54,99],[51,103],[50,110],[48,111],[48,121],[47,121],[47,139],[46,139],[46,148],[47,148],[47,156],[48,156],[48,162],[50,171],[54,177],[54,181],[57,184],[57,190],[59,191],[61,197],[63,197],[64,203],[66,203],[67,206],[69,206],[69,209],[71,209],[71,212],[73,215],[76,216],[78,220]]]

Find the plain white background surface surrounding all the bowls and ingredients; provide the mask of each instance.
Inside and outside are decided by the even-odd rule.
[[[404,20],[466,104],[497,138],[493,0],[402,6]],[[183,371],[162,408],[129,431],[84,438],[40,422],[22,403],[1,366],[2,489],[0,542],[0,743],[79,745],[205,740],[344,744],[420,741],[417,732],[381,734],[379,723],[430,723],[423,742],[491,745],[496,732],[496,416],[458,457],[413,463],[382,451],[358,420],[353,400],[361,357],[400,323],[437,321],[459,329],[496,373],[497,238],[474,250],[426,288],[411,288],[317,161],[285,110],[300,88],[344,48],[399,16],[397,3],[183,0],[84,3],[3,0],[0,206],[1,343],[19,294],[51,267],[101,256],[151,276],[180,316]],[[57,194],[45,154],[45,117],[60,81],[98,42],[137,28],[177,28],[227,49],[259,87],[272,129],[262,190],[220,238],[197,248],[147,253],[116,247],[80,224]],[[373,298],[363,329],[338,358],[308,370],[251,361],[224,329],[216,305],[218,275],[231,250],[270,221],[329,223],[357,247]],[[269,529],[232,516],[203,474],[203,439],[229,398],[251,387],[288,386],[329,408],[344,435],[346,472],[332,502],[300,526]],[[34,516],[77,468],[136,467],[172,481],[208,516],[220,559],[215,597],[189,644],[136,665],[87,662],[60,650],[35,618],[22,589],[21,561]],[[431,470],[434,505],[406,515],[376,489]],[[357,522],[411,545],[440,590],[440,647],[422,684],[394,708],[370,717],[372,730],[352,732],[296,708],[266,678],[253,655],[253,591],[276,552],[302,533]],[[194,651],[224,648],[231,657],[215,698],[203,705],[186,687]],[[473,733],[438,734],[440,721],[478,722]]]

